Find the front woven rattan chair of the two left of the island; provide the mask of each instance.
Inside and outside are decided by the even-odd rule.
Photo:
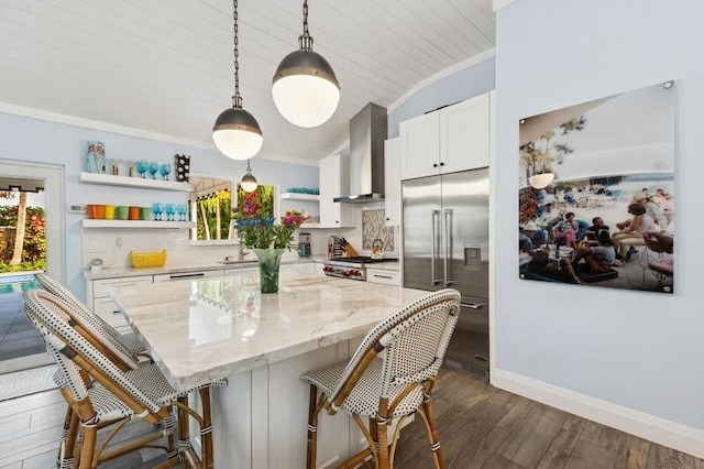
[[[77,461],[80,468],[97,467],[100,462],[150,445],[162,436],[167,437],[167,447],[163,449],[170,460],[185,460],[191,467],[201,467],[189,445],[188,416],[194,417],[201,428],[202,467],[212,467],[210,385],[179,392],[168,384],[154,363],[124,370],[101,351],[110,349],[108,345],[76,324],[78,315],[72,315],[62,299],[40,290],[26,291],[23,296],[25,312],[44,337],[47,351],[65,380],[61,391],[73,410],[72,421],[78,421],[73,428],[79,428],[76,433],[80,435]],[[202,399],[201,415],[185,403],[187,394],[196,390]],[[178,447],[173,438],[172,406],[176,406],[179,413]],[[133,418],[163,424],[164,429],[103,452],[116,434]],[[106,425],[116,427],[98,445],[97,430]],[[72,439],[75,444],[78,437],[72,435]]]

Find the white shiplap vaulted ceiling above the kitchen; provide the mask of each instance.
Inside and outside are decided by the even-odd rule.
[[[367,102],[389,107],[494,47],[492,0],[309,1],[314,50],[341,84],[334,116],[288,123],[271,80],[298,47],[302,1],[239,0],[240,92],[258,120],[257,157],[317,164]],[[215,149],[231,106],[231,0],[0,0],[0,111]]]

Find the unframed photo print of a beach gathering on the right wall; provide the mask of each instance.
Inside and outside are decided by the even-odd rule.
[[[673,292],[673,86],[520,119],[521,279]]]

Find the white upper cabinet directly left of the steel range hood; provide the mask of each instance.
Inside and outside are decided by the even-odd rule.
[[[354,211],[350,204],[332,201],[349,192],[348,155],[332,155],[320,161],[320,227],[342,228],[354,226]]]

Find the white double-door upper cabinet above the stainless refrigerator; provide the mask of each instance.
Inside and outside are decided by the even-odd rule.
[[[402,122],[402,179],[488,166],[490,108],[486,94]]]

